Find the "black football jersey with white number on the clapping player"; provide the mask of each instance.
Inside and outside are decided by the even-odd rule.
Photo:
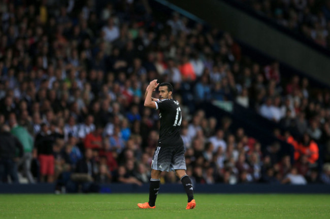
[[[160,119],[158,145],[182,145],[180,135],[182,116],[179,102],[175,99],[162,99],[156,103]]]

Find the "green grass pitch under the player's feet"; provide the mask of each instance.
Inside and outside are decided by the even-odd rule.
[[[0,218],[330,218],[329,195],[159,194],[155,209],[139,209],[148,194],[0,195]]]

